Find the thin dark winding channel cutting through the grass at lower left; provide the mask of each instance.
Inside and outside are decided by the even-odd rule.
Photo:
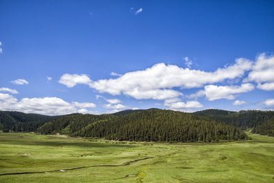
[[[72,170],[77,170],[77,169],[86,169],[86,168],[91,168],[91,167],[123,167],[123,166],[128,166],[130,164],[133,164],[134,162],[142,161],[142,160],[148,160],[154,157],[146,157],[146,158],[141,158],[137,160],[131,160],[127,162],[123,162],[122,164],[97,164],[97,165],[91,165],[91,166],[84,166],[84,167],[75,167],[71,169],[58,169],[58,170],[51,170],[51,171],[26,171],[26,172],[16,172],[16,173],[2,173],[0,176],[4,175],[22,175],[22,174],[34,174],[34,173],[51,173],[51,172],[58,172],[58,171],[72,171]]]

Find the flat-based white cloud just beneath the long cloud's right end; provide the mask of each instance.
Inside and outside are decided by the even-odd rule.
[[[254,89],[252,84],[242,84],[241,86],[205,86],[206,97],[213,101],[216,99],[235,99],[235,95],[239,93],[246,93]]]

